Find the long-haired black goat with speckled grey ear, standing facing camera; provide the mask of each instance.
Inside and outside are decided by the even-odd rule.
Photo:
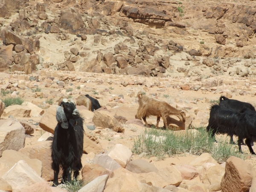
[[[74,178],[82,168],[81,156],[84,143],[84,119],[76,109],[72,99],[62,99],[56,112],[57,126],[52,140],[52,169],[54,171],[53,186],[58,185],[60,167],[63,170],[62,182],[71,181],[72,171]]]

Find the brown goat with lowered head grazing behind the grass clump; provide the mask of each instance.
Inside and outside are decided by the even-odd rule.
[[[186,113],[184,111],[178,110],[166,102],[148,96],[143,96],[141,92],[137,94],[137,97],[139,98],[139,109],[135,115],[135,118],[142,118],[147,127],[149,127],[146,121],[146,117],[148,116],[157,116],[157,129],[160,117],[163,118],[165,128],[168,127],[166,118],[169,115],[177,116],[182,122],[186,121]]]

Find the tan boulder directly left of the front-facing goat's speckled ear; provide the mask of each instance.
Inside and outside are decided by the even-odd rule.
[[[39,126],[44,129],[44,131],[47,131],[51,134],[54,134],[54,129],[56,125],[58,124],[56,120],[56,111],[57,111],[58,105],[51,105],[46,113],[44,113],[44,116],[39,122]]]

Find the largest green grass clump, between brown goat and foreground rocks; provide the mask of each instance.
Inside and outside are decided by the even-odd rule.
[[[145,157],[157,157],[159,160],[166,156],[203,153],[211,154],[218,163],[225,162],[231,156],[244,158],[235,146],[227,141],[221,140],[215,143],[215,139],[209,136],[206,128],[198,128],[195,132],[187,130],[184,134],[177,134],[172,130],[146,128],[135,139],[132,152]]]

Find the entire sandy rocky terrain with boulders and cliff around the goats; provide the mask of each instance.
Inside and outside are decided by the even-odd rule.
[[[245,160],[222,164],[209,154],[158,160],[131,152],[145,129],[134,119],[139,91],[186,111],[185,123],[169,117],[176,130],[206,126],[210,102],[221,95],[256,105],[255,6],[0,1],[0,99],[25,99],[8,107],[0,102],[0,191],[65,191],[49,187],[55,113],[61,96],[76,101],[84,94],[103,108],[77,107],[85,118],[79,177],[93,180],[81,191],[256,191],[256,157],[244,145]]]

